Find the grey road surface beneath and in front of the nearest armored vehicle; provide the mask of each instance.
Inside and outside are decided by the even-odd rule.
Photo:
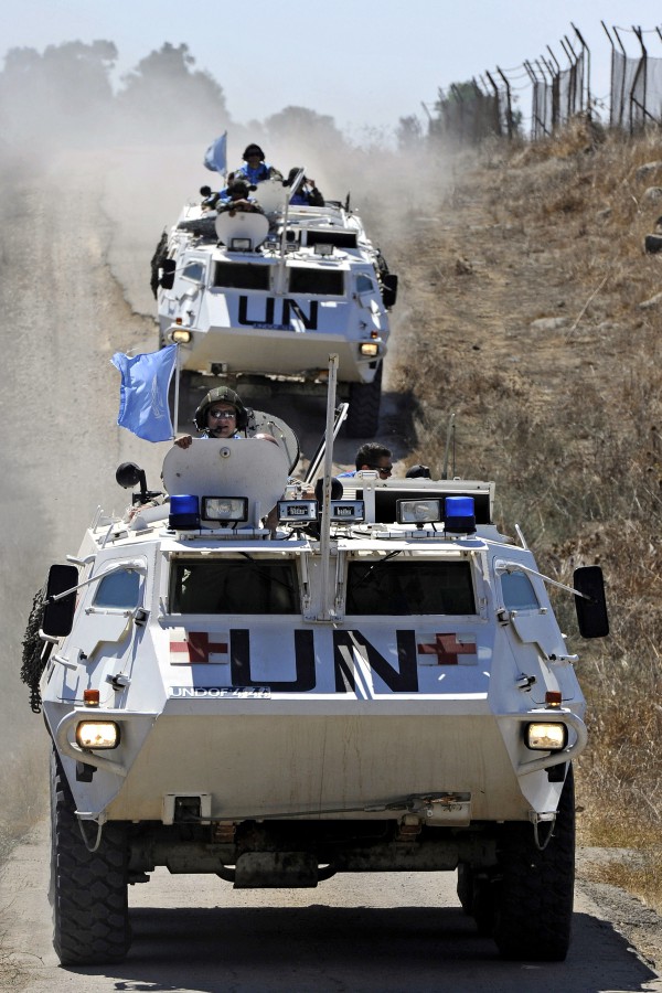
[[[51,947],[47,824],[2,875],[7,991],[662,991],[661,974],[578,886],[565,963],[496,958],[455,895],[455,873],[339,876],[314,890],[234,890],[166,869],[131,887],[134,944],[121,965],[62,969]],[[633,919],[636,901],[623,908]]]

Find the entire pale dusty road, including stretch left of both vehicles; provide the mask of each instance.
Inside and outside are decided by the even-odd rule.
[[[6,815],[9,810],[17,825],[34,820],[31,790],[43,794],[46,767],[40,718],[30,714],[28,693],[18,681],[30,595],[51,560],[76,551],[82,523],[97,502],[116,510],[126,504],[115,467],[131,459],[156,480],[167,448],[150,447],[116,427],[118,382],[108,361],[116,350],[153,348],[153,322],[145,317],[151,306],[149,254],[163,218],[174,216],[190,193],[191,184],[174,184],[171,202],[154,204],[140,180],[147,173],[138,153],[126,153],[122,167],[109,174],[100,161],[63,160],[38,181],[15,178],[15,195],[2,206],[0,292],[9,318],[0,397],[6,429],[0,508],[8,688],[0,704],[6,745],[0,786]],[[301,426],[305,420],[306,450],[317,440],[323,416],[301,412]],[[397,446],[402,453],[402,438]],[[341,462],[351,459],[353,447],[344,442],[339,449]],[[36,776],[26,773],[30,764],[41,770]],[[479,938],[462,915],[450,874],[341,877],[314,893],[235,893],[221,880],[158,872],[130,895],[135,943],[127,962],[63,970],[51,948],[46,835],[42,821],[3,868],[3,990],[499,993],[515,984],[527,991],[563,984],[568,993],[662,990],[659,972],[615,928],[619,921],[634,935],[627,928],[637,920],[649,937],[659,936],[659,919],[647,920],[641,905],[626,895],[608,901],[580,885],[568,962],[510,964],[496,959],[492,943]],[[639,932],[636,937],[649,948]]]

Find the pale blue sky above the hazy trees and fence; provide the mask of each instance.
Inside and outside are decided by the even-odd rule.
[[[0,0],[0,54],[39,52],[66,41],[115,42],[117,76],[164,42],[189,45],[195,68],[223,87],[242,124],[287,106],[330,115],[352,137],[393,131],[401,117],[425,120],[439,88],[496,66],[531,108],[523,62],[549,57],[563,67],[574,23],[590,50],[591,90],[608,97],[610,44],[601,21],[622,28],[628,54],[662,58],[660,0]]]

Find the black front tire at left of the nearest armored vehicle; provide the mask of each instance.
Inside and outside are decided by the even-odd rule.
[[[84,826],[92,845],[96,825]],[[51,759],[51,843],[53,947],[60,961],[63,965],[121,961],[131,943],[127,829],[109,821],[97,851],[88,851],[55,751]]]

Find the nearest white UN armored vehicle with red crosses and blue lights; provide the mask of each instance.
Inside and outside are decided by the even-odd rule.
[[[167,498],[125,463],[131,509],[52,567],[26,649],[63,963],[126,955],[157,866],[237,888],[457,871],[502,955],[565,958],[587,736],[553,580],[493,523],[493,483],[364,472],[333,495],[329,469],[318,504],[270,440],[173,447]],[[599,568],[565,588],[606,634]]]

